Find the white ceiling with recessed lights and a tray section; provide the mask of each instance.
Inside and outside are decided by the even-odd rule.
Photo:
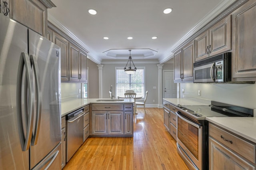
[[[172,50],[213,19],[230,0],[52,0],[48,20],[78,38],[88,57],[105,61],[168,61]],[[232,1],[234,2],[234,0]],[[173,8],[164,14],[165,8]],[[210,9],[209,7],[212,7]],[[96,15],[88,9],[97,11]],[[217,10],[218,9],[218,10]],[[153,40],[152,37],[157,36]],[[104,40],[103,37],[108,37]],[[133,37],[128,40],[127,37]],[[125,60],[125,61],[124,61]]]

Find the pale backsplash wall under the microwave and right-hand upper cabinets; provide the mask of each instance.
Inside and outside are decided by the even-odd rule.
[[[228,103],[250,109],[256,109],[256,84],[202,84],[180,83],[180,98],[183,95]],[[198,96],[201,90],[201,96]]]

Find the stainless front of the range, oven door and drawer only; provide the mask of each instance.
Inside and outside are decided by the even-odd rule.
[[[177,149],[190,169],[202,169],[202,125],[188,119],[180,111],[177,128]],[[197,167],[197,168],[196,168]]]

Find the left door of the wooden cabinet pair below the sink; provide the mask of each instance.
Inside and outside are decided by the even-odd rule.
[[[92,112],[92,134],[108,134],[108,112]]]

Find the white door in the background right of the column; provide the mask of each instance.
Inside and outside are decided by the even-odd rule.
[[[164,98],[177,98],[177,84],[173,71],[164,71]]]

